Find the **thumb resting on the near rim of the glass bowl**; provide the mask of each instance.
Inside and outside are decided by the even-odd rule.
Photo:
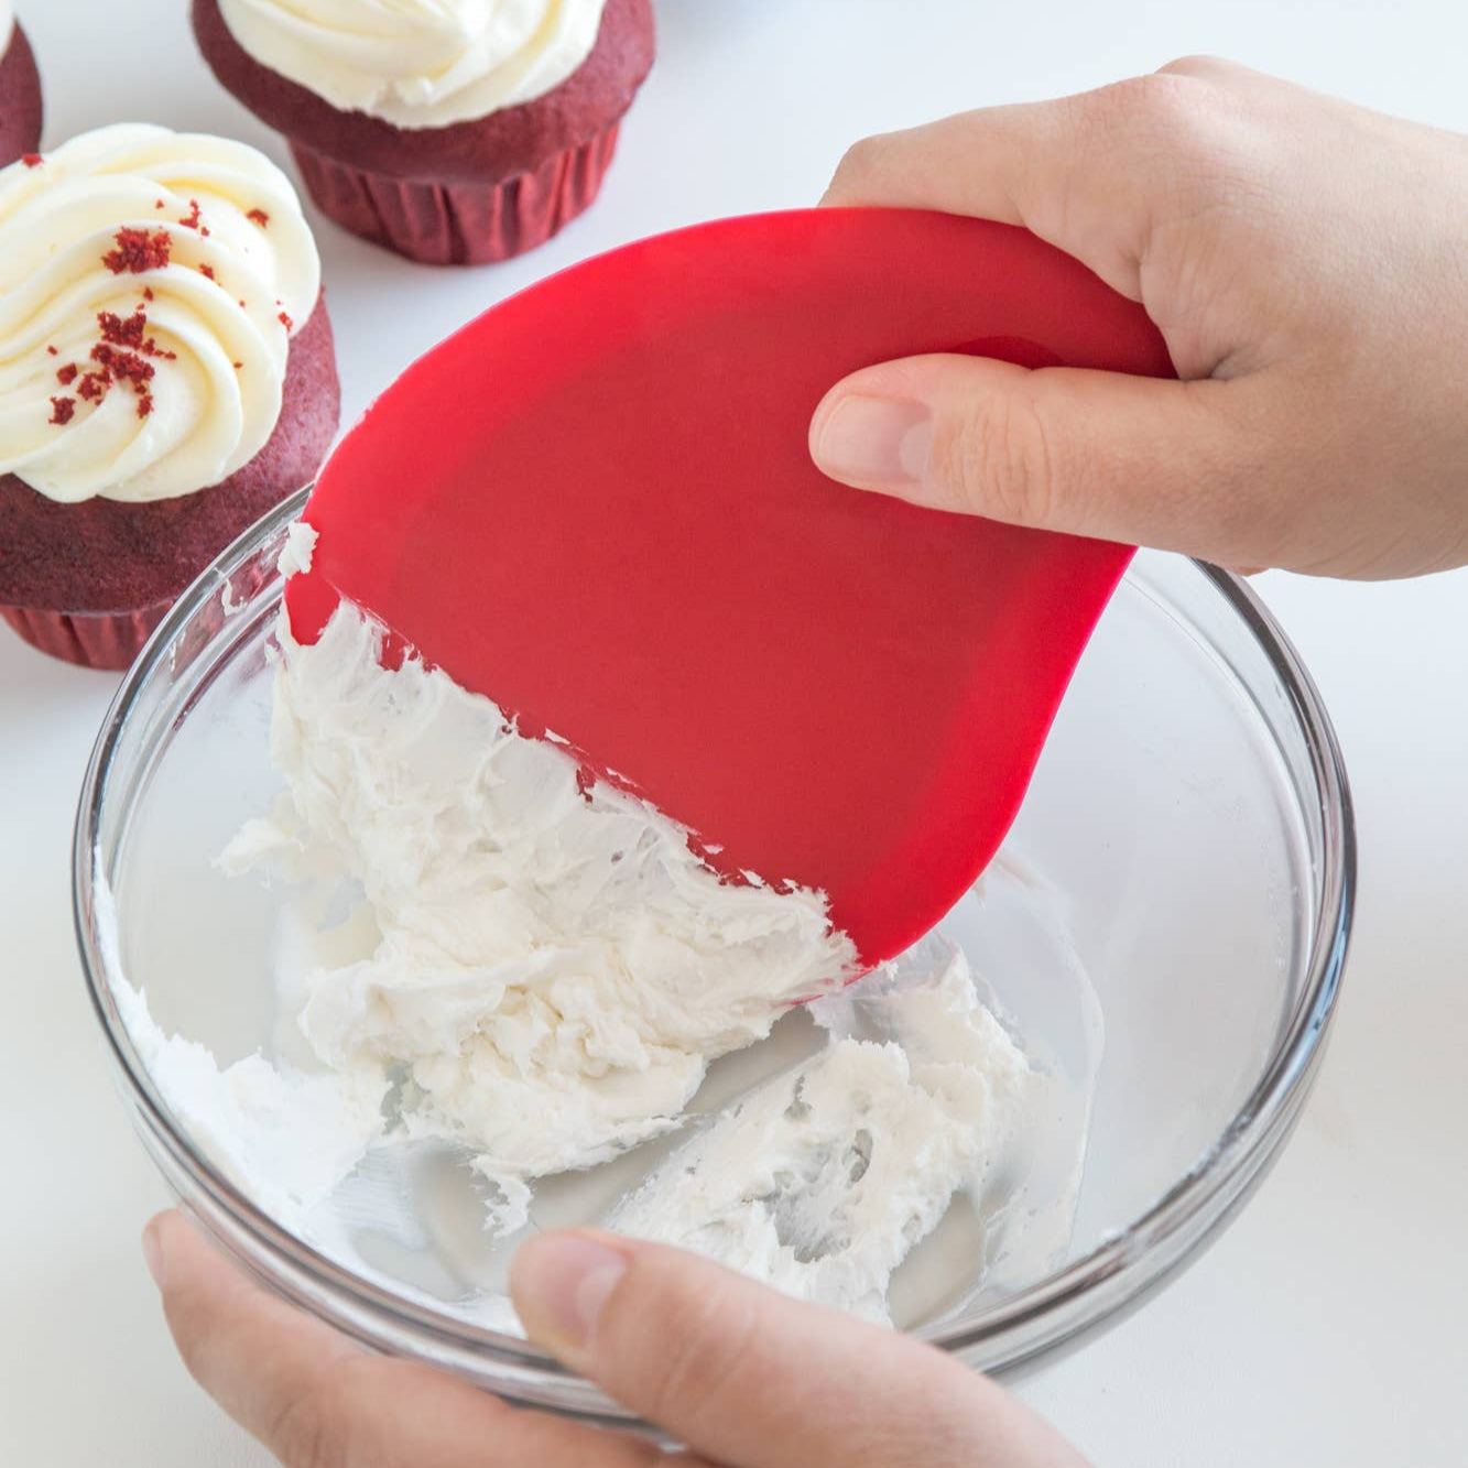
[[[950,1356],[678,1249],[546,1233],[521,1246],[511,1290],[531,1339],[737,1468],[1085,1468]]]

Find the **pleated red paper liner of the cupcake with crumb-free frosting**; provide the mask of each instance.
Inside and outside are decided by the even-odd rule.
[[[345,167],[295,138],[291,151],[323,213],[423,264],[509,260],[543,245],[596,198],[617,123],[502,184],[435,184]]]

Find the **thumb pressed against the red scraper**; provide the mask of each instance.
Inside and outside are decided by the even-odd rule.
[[[1273,390],[982,357],[910,357],[837,383],[810,423],[832,479],[934,509],[1276,564]]]

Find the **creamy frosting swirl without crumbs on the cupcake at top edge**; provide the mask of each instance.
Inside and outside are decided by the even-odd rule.
[[[342,112],[445,128],[545,95],[605,0],[219,0],[239,46]]]

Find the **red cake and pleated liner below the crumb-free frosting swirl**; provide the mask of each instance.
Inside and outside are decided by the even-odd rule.
[[[432,264],[505,260],[581,213],[655,51],[650,0],[606,0],[590,54],[543,97],[448,128],[395,128],[263,66],[217,0],[192,0],[192,16],[214,75],[285,134],[320,208]]]

